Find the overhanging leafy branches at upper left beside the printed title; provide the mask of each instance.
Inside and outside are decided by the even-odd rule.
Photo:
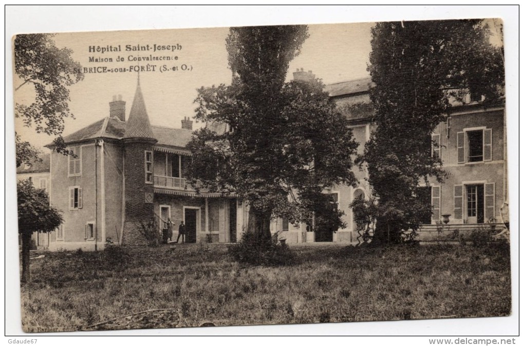
[[[16,93],[34,95],[30,104],[16,103],[15,117],[37,133],[54,136],[57,150],[67,153],[61,137],[69,110],[69,86],[83,79],[80,63],[71,50],[56,47],[52,34],[17,35],[14,40]],[[31,89],[29,89],[31,88]],[[39,150],[16,134],[16,165],[38,160]]]

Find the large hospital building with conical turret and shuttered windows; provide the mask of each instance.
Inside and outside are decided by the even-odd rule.
[[[296,80],[313,77],[311,71],[294,73]],[[326,86],[353,128],[358,153],[375,128],[370,86],[370,79]],[[426,196],[431,198],[433,216],[422,239],[430,238],[442,215],[450,215],[450,225],[459,229],[501,222],[497,210],[507,196],[504,105],[485,107],[480,96],[466,101],[456,104],[435,129],[432,139],[440,147],[428,148],[429,154],[440,155],[450,177],[429,187]],[[125,108],[126,103],[115,97],[108,117],[65,137],[74,157],[52,153],[48,191],[51,204],[63,211],[64,223],[51,234],[49,248],[94,250],[108,242],[144,245],[150,241],[149,232],[160,233],[168,220],[175,237],[184,221],[187,242],[239,239],[247,225],[245,201],[234,195],[197,194],[184,178],[192,121],[184,118],[179,129],[150,125],[140,85],[128,119]],[[227,125],[214,124],[213,129],[227,131]],[[370,189],[365,170],[355,169],[355,175],[356,188],[333,186],[324,191],[344,211],[345,229],[316,229],[312,217],[299,226],[276,219],[271,231],[281,232],[279,237],[289,243],[358,242],[359,226],[349,205],[355,198],[369,198]]]

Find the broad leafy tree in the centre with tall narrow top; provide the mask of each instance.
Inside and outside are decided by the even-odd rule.
[[[285,83],[307,37],[305,26],[232,28],[232,85],[202,87],[195,100],[196,119],[230,130],[195,133],[192,184],[247,199],[246,231],[261,240],[271,217],[305,220],[324,187],[355,182],[357,144],[322,83]]]

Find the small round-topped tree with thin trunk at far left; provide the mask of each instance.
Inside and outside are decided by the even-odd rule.
[[[29,250],[34,232],[51,232],[62,223],[58,209],[49,205],[45,189],[35,188],[30,180],[17,184],[18,191],[18,233],[22,238],[22,282],[30,280]]]

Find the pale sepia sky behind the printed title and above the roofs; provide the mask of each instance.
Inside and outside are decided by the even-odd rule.
[[[373,23],[310,25],[310,37],[303,43],[298,57],[290,62],[288,80],[297,69],[313,71],[326,84],[367,76],[372,26]],[[137,69],[141,71],[140,86],[151,124],[181,127],[181,119],[194,115],[193,101],[198,88],[231,82],[225,48],[228,32],[228,28],[202,28],[56,34],[53,39],[57,47],[71,49],[72,58],[88,71],[101,71],[103,67],[125,69],[125,72],[84,73],[84,79],[69,88],[69,106],[75,119],[65,120],[63,135],[108,116],[108,103],[113,95],[122,95],[126,101],[127,119],[137,84]],[[169,46],[169,49],[158,50],[158,46]],[[135,61],[150,55],[172,60]],[[124,61],[117,61],[118,57]],[[108,61],[110,59],[112,61]],[[148,63],[155,68],[148,69]],[[164,65],[167,71],[161,70]],[[188,66],[185,71],[184,65]],[[178,70],[172,71],[173,66]],[[15,85],[19,84],[21,81],[15,79]],[[15,93],[15,101],[20,103],[31,102],[33,97],[31,84]],[[193,124],[194,128],[203,125]],[[23,127],[20,119],[16,130],[37,147],[50,142],[49,136],[35,135],[34,130]]]

